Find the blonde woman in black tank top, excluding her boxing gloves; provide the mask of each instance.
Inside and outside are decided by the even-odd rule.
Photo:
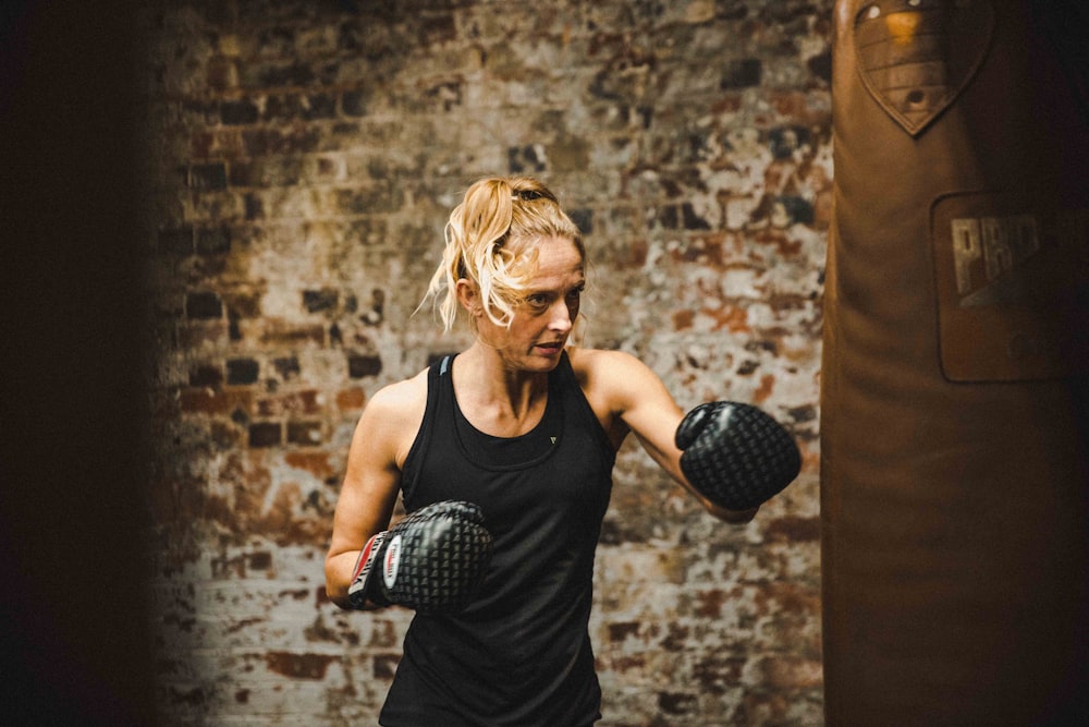
[[[617,351],[568,349],[586,284],[578,229],[526,178],[474,184],[446,226],[429,296],[476,340],[378,391],[359,420],[326,562],[330,597],[352,607],[360,552],[408,512],[473,502],[493,538],[487,578],[457,614],[418,613],[381,724],[589,725],[601,692],[588,635],[594,553],[616,450],[634,433],[686,481],[682,412],[661,380]],[[369,547],[367,548],[369,549]]]

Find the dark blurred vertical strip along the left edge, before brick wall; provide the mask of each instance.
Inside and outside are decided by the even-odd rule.
[[[133,3],[0,7],[0,724],[154,722]]]

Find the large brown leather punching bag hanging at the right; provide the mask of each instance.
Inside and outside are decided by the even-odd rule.
[[[834,13],[827,723],[1089,725],[1087,10]]]

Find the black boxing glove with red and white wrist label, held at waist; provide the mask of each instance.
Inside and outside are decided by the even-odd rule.
[[[491,561],[491,534],[472,502],[443,501],[372,536],[348,586],[354,608],[396,604],[456,613],[469,604]]]

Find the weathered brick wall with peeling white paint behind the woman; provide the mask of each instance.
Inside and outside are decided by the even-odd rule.
[[[756,402],[802,477],[756,521],[619,458],[591,634],[605,725],[821,720],[817,402],[831,0],[171,2],[145,10],[156,701],[371,724],[411,615],[323,598],[367,398],[467,344],[413,315],[475,179],[587,231],[588,346]]]

